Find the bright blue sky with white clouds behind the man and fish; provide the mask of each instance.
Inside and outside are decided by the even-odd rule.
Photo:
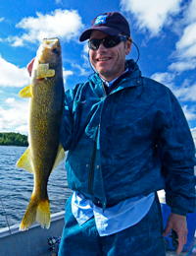
[[[85,82],[92,70],[81,32],[105,12],[128,20],[140,50],[142,75],[168,86],[178,98],[196,142],[196,0],[85,0],[0,2],[0,132],[27,134],[30,83],[27,63],[44,37],[59,37],[65,90]],[[134,46],[127,58],[136,60]]]

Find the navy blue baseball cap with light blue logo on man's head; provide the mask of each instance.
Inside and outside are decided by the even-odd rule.
[[[129,24],[123,15],[118,12],[104,13],[97,16],[92,21],[91,29],[82,32],[79,40],[84,41],[90,38],[90,34],[93,31],[106,32],[110,35],[117,35],[123,32],[128,37],[130,37]]]

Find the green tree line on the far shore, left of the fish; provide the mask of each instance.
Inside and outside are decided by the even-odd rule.
[[[0,133],[0,145],[4,146],[28,146],[27,136],[20,133]]]

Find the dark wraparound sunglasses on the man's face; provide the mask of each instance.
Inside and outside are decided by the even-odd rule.
[[[125,39],[127,39],[125,35],[110,35],[102,39],[90,39],[88,41],[88,47],[91,50],[97,50],[103,42],[105,48],[113,48]]]

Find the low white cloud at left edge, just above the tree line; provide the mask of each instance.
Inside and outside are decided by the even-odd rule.
[[[27,133],[28,99],[8,98],[9,109],[0,106],[0,131],[20,131]],[[25,127],[21,130],[19,127]]]

